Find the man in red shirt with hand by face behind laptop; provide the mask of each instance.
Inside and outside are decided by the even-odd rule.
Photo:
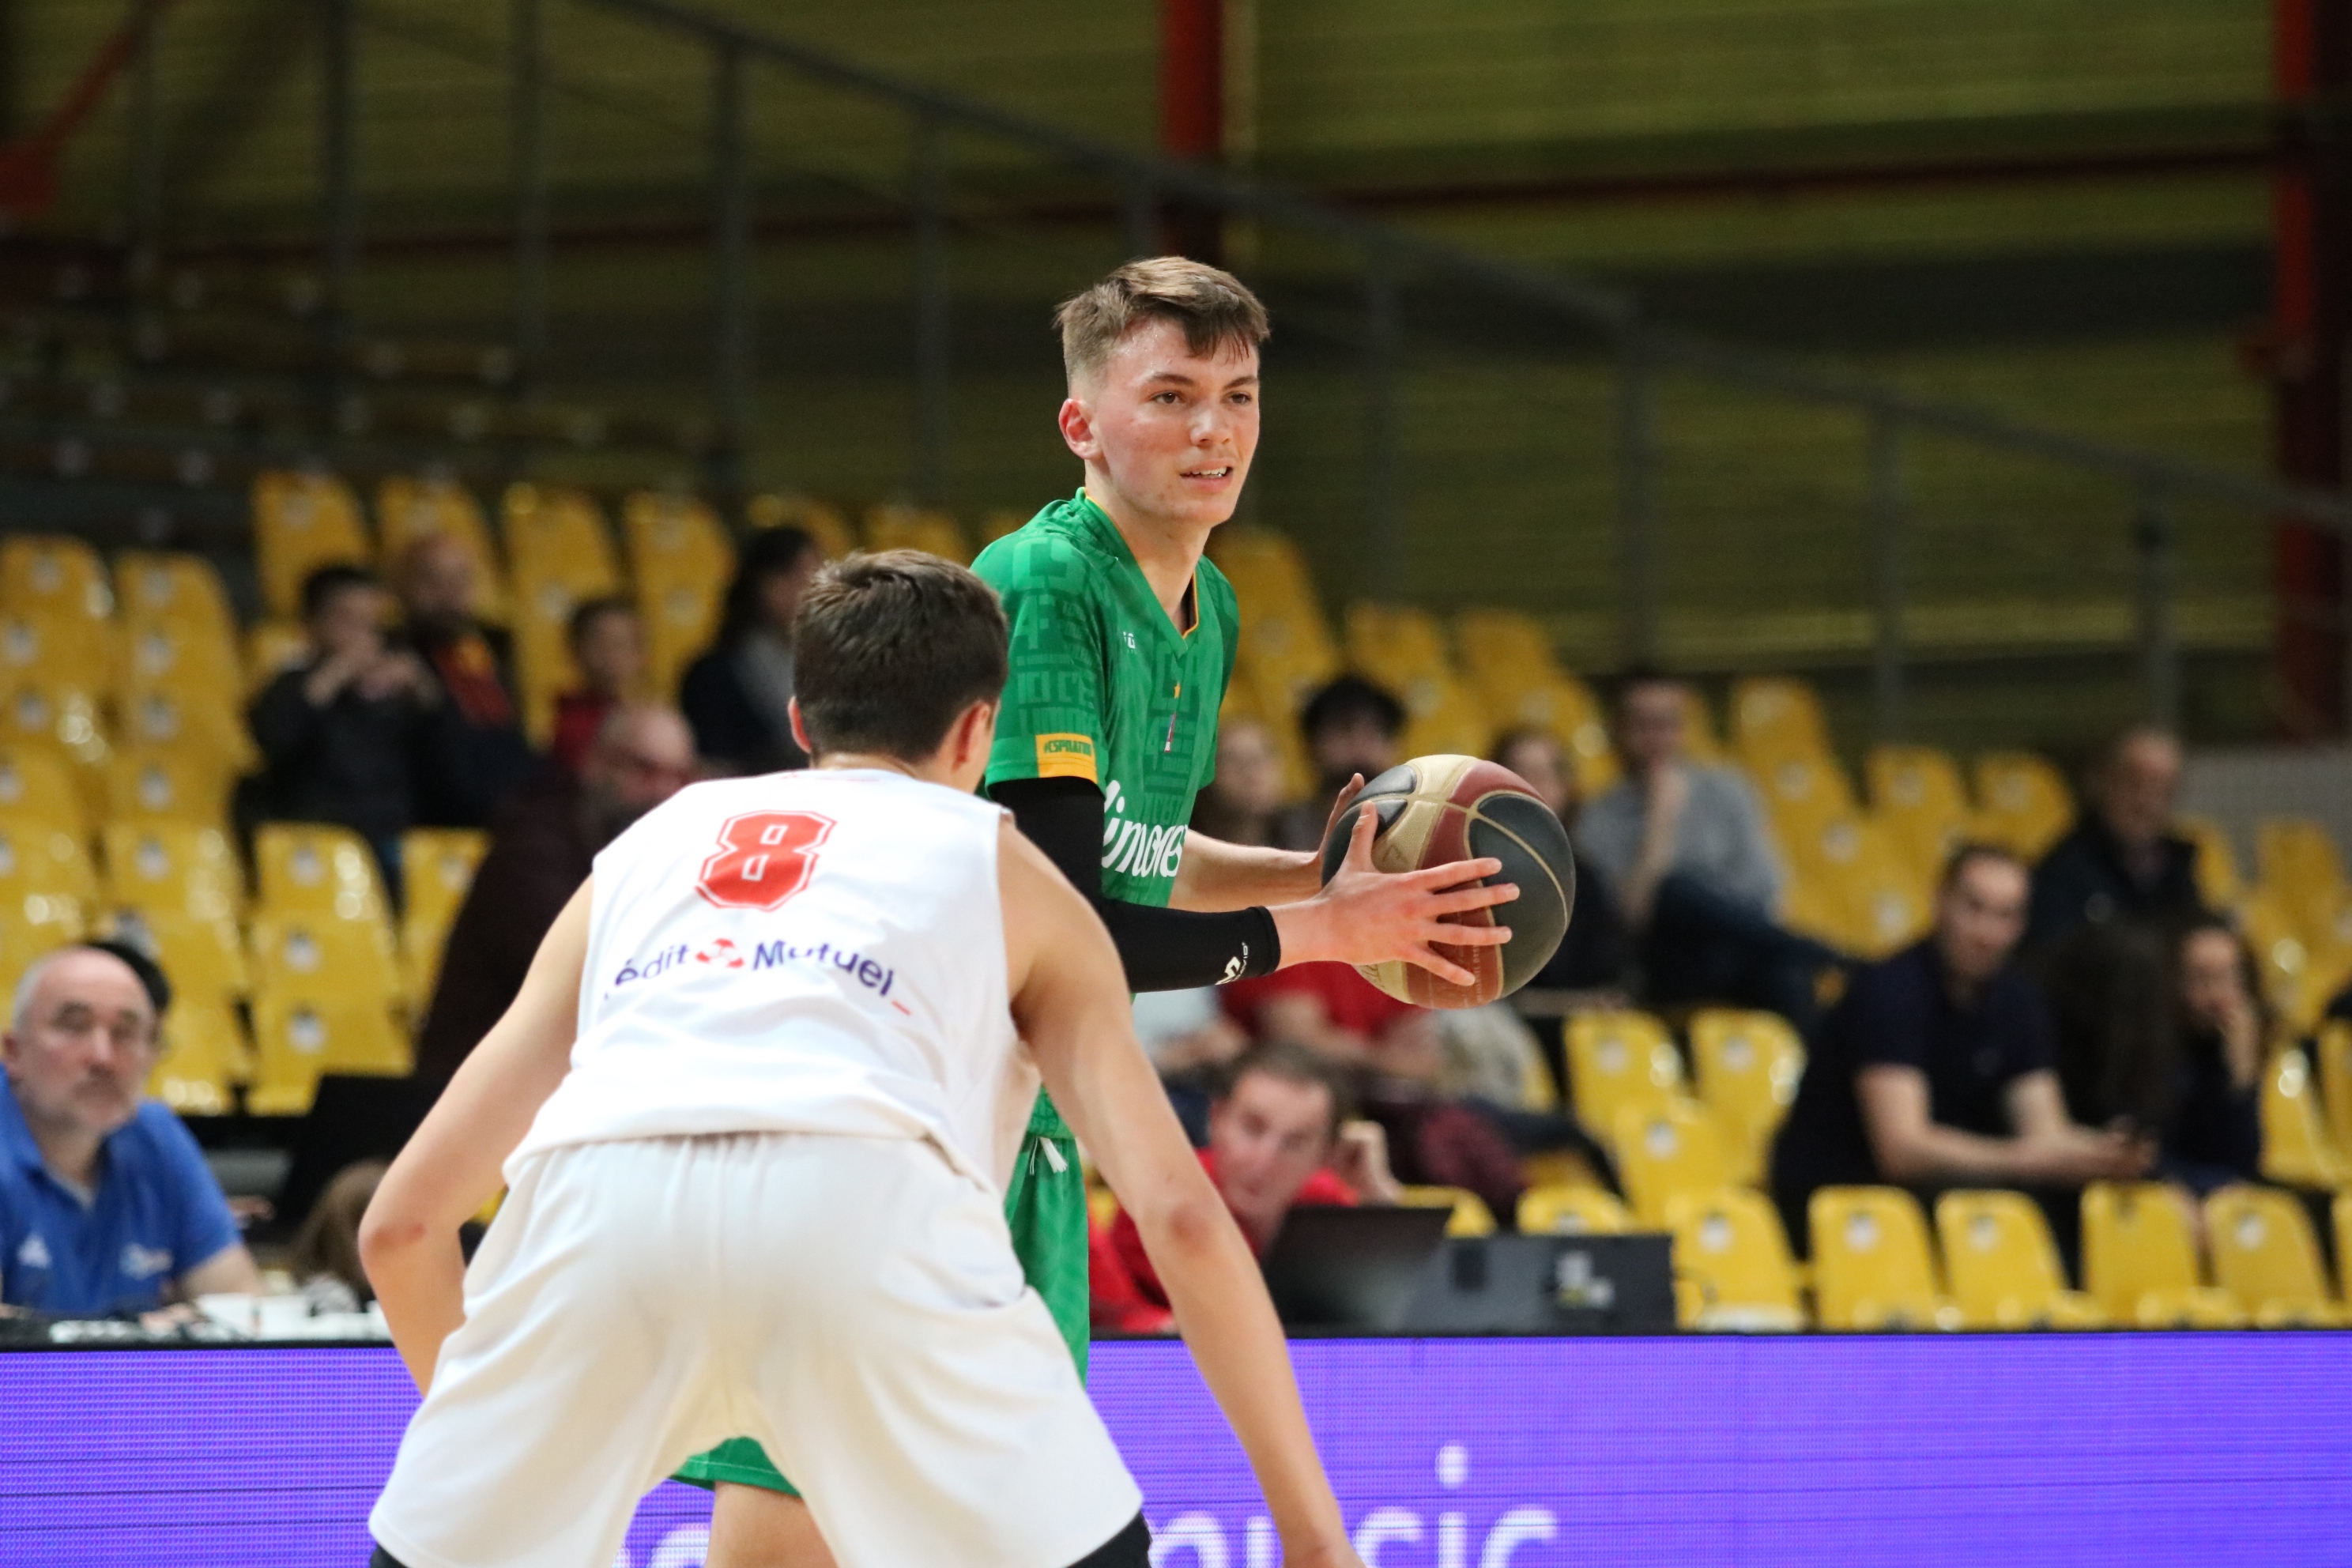
[[[1256,1046],[1232,1063],[1209,1110],[1200,1164],[1254,1253],[1265,1253],[1301,1204],[1395,1204],[1381,1128],[1350,1121],[1338,1072],[1291,1044]],[[1122,1211],[1094,1248],[1094,1324],[1127,1333],[1169,1328],[1169,1295]]]

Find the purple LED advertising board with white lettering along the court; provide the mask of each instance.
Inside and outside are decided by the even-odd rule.
[[[2352,1563],[2352,1333],[1291,1352],[1371,1568]],[[1183,1347],[1096,1345],[1094,1394],[1155,1561],[1277,1561]],[[390,1349],[0,1354],[0,1563],[360,1568],[412,1406]],[[708,1512],[649,1495],[626,1568]]]

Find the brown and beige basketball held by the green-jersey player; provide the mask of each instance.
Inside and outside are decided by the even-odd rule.
[[[1414,757],[1397,764],[1364,785],[1331,823],[1324,882],[1348,858],[1348,837],[1364,809],[1381,818],[1371,839],[1371,863],[1378,870],[1416,872],[1491,856],[1503,863],[1503,872],[1489,882],[1519,889],[1512,903],[1446,917],[1510,926],[1510,940],[1501,947],[1437,943],[1437,952],[1477,976],[1475,985],[1454,985],[1404,961],[1362,964],[1367,980],[1414,1006],[1484,1006],[1519,990],[1552,961],[1576,907],[1576,858],[1569,853],[1569,830],[1526,780],[1479,757]]]

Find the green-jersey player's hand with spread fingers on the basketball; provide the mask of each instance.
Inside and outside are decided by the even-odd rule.
[[[1428,969],[1439,980],[1475,985],[1477,976],[1437,952],[1446,947],[1501,947],[1510,926],[1470,926],[1446,919],[1470,910],[1510,903],[1519,889],[1510,882],[1479,886],[1503,870],[1501,860],[1451,860],[1418,872],[1383,872],[1371,863],[1371,839],[1381,820],[1374,811],[1355,818],[1348,835],[1348,858],[1308,907],[1324,917],[1322,940],[1310,943],[1301,959],[1338,959],[1343,964],[1406,961]],[[1284,931],[1284,952],[1296,952]]]

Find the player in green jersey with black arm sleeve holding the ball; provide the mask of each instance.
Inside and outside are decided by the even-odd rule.
[[[1265,308],[1230,273],[1160,256],[1070,299],[1056,324],[1070,381],[1061,435],[1087,482],[974,562],[1011,623],[985,790],[1094,903],[1134,990],[1392,957],[1470,983],[1430,943],[1510,938],[1439,924],[1515,898],[1475,886],[1501,863],[1378,875],[1367,813],[1348,867],[1324,884],[1315,853],[1223,844],[1185,825],[1216,769],[1216,710],[1240,637],[1232,585],[1204,550],[1258,447]],[[1084,1373],[1087,1190],[1077,1143],[1044,1095],[1004,1218]],[[696,1455],[680,1476],[717,1490],[710,1568],[830,1561],[809,1509],[750,1439]]]

